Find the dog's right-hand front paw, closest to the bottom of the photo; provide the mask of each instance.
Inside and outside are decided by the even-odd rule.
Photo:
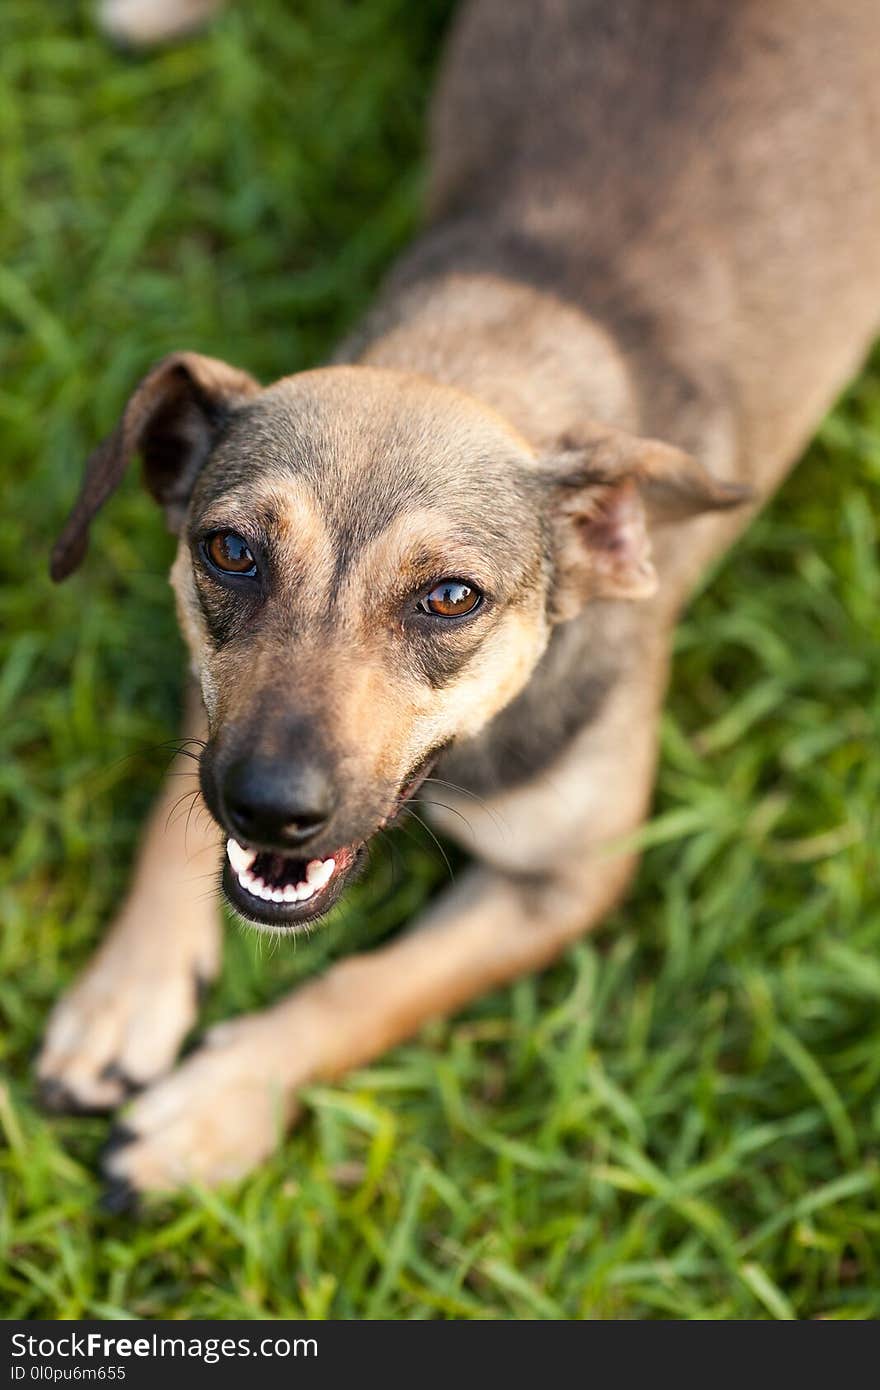
[[[295,1116],[289,1077],[272,1073],[263,1015],[213,1029],[203,1047],[143,1091],[104,1150],[106,1207],[186,1184],[215,1187],[267,1158]]]

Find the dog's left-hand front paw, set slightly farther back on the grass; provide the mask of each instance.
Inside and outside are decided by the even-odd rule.
[[[218,970],[220,927],[129,912],[54,1006],[36,1065],[54,1111],[114,1109],[172,1065]]]

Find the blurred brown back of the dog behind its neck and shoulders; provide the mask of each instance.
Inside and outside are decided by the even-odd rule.
[[[727,402],[766,486],[880,325],[879,136],[876,0],[475,0],[416,259],[576,302],[645,428],[692,446],[683,395]]]

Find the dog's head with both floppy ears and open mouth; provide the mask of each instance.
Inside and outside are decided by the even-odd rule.
[[[414,374],[332,367],[261,389],[179,353],[89,460],[56,578],[138,452],[179,534],[224,888],[282,927],[327,910],[439,751],[523,689],[553,623],[653,592],[646,499],[681,514],[742,500],[616,431],[538,459],[491,409]]]

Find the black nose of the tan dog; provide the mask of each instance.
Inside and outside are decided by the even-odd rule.
[[[242,759],[227,769],[222,799],[229,827],[246,844],[296,848],[313,840],[334,813],[331,780],[316,764]]]

